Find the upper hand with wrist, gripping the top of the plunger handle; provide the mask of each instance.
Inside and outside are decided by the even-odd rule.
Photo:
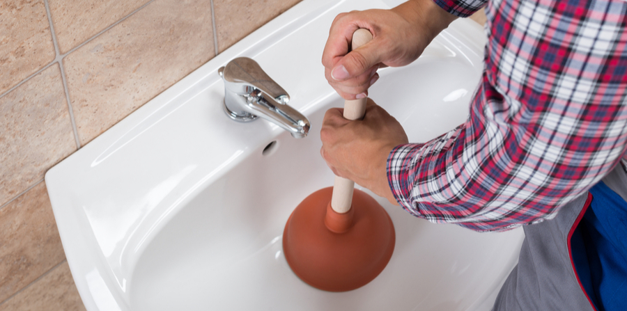
[[[433,0],[412,0],[392,10],[342,13],[331,25],[323,52],[325,77],[344,99],[366,97],[379,67],[415,61],[455,18]],[[368,29],[373,39],[349,53],[353,33],[360,28]]]

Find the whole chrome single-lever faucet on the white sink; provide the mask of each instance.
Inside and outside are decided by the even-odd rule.
[[[309,132],[309,120],[288,106],[290,95],[251,58],[239,57],[218,70],[224,80],[224,111],[233,120],[249,122],[261,117],[295,138]]]

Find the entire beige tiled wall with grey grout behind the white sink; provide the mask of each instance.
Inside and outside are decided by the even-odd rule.
[[[84,310],[43,177],[300,0],[0,0],[0,311]]]

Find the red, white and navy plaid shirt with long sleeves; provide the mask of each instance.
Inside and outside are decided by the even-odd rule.
[[[435,2],[460,17],[486,4]],[[555,217],[627,147],[626,1],[495,0],[486,15],[467,122],[387,161],[404,209],[477,231]]]

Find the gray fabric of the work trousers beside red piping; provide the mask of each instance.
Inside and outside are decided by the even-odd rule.
[[[627,175],[621,165],[603,182],[627,200]],[[525,226],[518,265],[501,288],[493,310],[594,310],[568,253],[568,233],[586,200],[587,193],[562,207],[552,220]]]

